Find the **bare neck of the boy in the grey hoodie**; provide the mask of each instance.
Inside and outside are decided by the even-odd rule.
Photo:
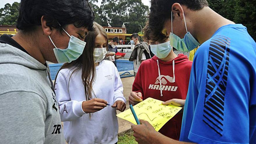
[[[42,64],[46,63],[45,58],[40,51],[39,45],[37,43],[38,37],[33,35],[23,34],[22,32],[18,32],[13,37],[19,45],[21,45],[33,58],[39,61]]]

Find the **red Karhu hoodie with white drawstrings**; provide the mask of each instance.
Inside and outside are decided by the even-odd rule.
[[[132,91],[141,92],[143,100],[148,97],[164,102],[175,98],[186,99],[192,61],[189,61],[188,57],[184,54],[179,54],[173,61],[164,62],[156,56],[143,61],[132,85]],[[159,70],[161,83],[159,81]],[[160,85],[163,96],[161,96]],[[179,140],[182,115],[183,113],[175,115],[159,132],[169,138]]]

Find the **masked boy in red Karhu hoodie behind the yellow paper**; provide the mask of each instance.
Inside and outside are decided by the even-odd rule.
[[[145,29],[144,37],[147,37]],[[174,54],[168,38],[162,42],[150,42],[155,56],[141,63],[132,85],[129,103],[135,105],[148,97],[164,101],[164,104],[175,105],[177,101],[185,103],[192,62],[184,54]],[[182,114],[176,114],[159,132],[179,140]]]

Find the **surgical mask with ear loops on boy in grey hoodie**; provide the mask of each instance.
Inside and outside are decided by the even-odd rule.
[[[65,30],[63,29],[63,31]],[[77,58],[79,58],[79,56],[81,56],[81,54],[83,53],[83,49],[86,45],[86,42],[74,37],[73,35],[70,36],[67,31],[65,31],[65,33],[70,37],[68,47],[66,49],[57,48],[56,45],[54,45],[54,42],[51,40],[50,35],[48,35],[51,43],[55,47],[53,51],[58,63],[70,63],[76,60]]]

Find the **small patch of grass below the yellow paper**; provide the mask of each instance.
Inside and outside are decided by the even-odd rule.
[[[118,144],[138,144],[132,134],[133,131],[131,129],[118,134]]]

